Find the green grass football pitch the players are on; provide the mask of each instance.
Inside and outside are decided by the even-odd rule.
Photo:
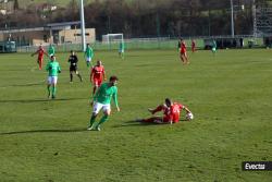
[[[87,131],[89,70],[78,53],[81,83],[70,83],[69,53],[57,99],[47,99],[46,71],[26,53],[0,54],[0,181],[261,181],[271,171],[243,171],[243,161],[272,160],[272,50],[189,52],[96,51],[107,77],[120,81],[116,112]],[[45,64],[44,64],[45,65]],[[140,124],[165,97],[186,105],[193,121]],[[99,118],[101,114],[99,116]],[[182,113],[184,119],[184,112]],[[98,118],[98,119],[99,119]]]

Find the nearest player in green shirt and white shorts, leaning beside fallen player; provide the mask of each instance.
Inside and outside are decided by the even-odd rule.
[[[103,83],[95,94],[92,104],[92,114],[90,117],[89,126],[87,130],[96,130],[100,131],[100,126],[104,123],[109,116],[111,114],[111,99],[115,102],[118,111],[120,111],[119,104],[118,104],[118,77],[111,76],[108,83]],[[100,119],[98,124],[94,126],[98,112],[102,109],[103,117]]]

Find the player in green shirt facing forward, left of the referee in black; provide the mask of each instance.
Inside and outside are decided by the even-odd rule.
[[[52,99],[54,99],[57,92],[58,74],[61,73],[61,68],[59,62],[55,61],[55,56],[50,57],[50,61],[47,63],[46,70],[48,71],[48,98],[50,98],[51,95]],[[50,86],[52,87],[51,92]]]

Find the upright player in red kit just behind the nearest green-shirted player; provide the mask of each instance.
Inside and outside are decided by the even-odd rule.
[[[95,95],[97,88],[101,85],[102,81],[106,81],[106,73],[102,62],[97,61],[97,65],[91,69],[90,72],[90,82],[94,84],[92,95]]]

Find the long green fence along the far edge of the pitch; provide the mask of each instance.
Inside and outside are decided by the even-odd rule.
[[[186,37],[184,38],[187,48],[190,49],[191,39],[196,41],[197,49],[205,48],[205,38],[230,38],[226,36],[217,36],[217,37]],[[244,36],[244,48],[250,46],[249,44],[254,43],[255,47],[263,47],[263,38],[252,38],[250,36]],[[125,50],[143,50],[143,49],[177,49],[178,39],[172,39],[169,37],[163,38],[134,38],[125,39]],[[94,50],[116,50],[119,49],[119,43],[104,44],[101,41],[96,41],[91,44]],[[45,49],[48,47],[45,46]],[[17,46],[18,52],[35,52],[37,46]],[[55,45],[55,50],[59,52],[66,52],[70,50],[81,51],[82,45],[76,44],[62,44]]]

